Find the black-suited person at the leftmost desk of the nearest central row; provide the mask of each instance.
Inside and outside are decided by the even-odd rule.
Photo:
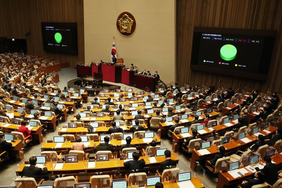
[[[47,168],[44,166],[43,170],[41,168],[36,167],[36,161],[37,158],[36,157],[30,157],[29,158],[29,164],[30,166],[25,166],[23,169],[23,175],[24,176],[28,176],[28,177],[34,177],[36,182],[39,182],[42,178],[38,177],[41,175],[45,175],[48,173]]]

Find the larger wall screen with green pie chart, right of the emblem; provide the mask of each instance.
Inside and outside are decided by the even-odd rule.
[[[194,28],[191,69],[266,80],[276,31]]]

